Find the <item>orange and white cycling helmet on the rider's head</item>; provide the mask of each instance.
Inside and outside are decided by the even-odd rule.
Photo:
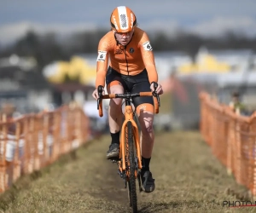
[[[119,6],[113,9],[110,15],[111,28],[115,32],[131,32],[134,26],[137,26],[135,14],[125,6]]]

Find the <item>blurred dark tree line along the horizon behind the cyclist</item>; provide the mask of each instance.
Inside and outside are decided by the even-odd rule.
[[[60,38],[55,33],[44,36],[36,32],[27,32],[15,43],[1,48],[0,57],[16,54],[34,56],[39,68],[54,60],[69,60],[75,54],[96,53],[98,42],[107,31],[74,33],[70,37]],[[164,32],[148,36],[154,51],[183,51],[194,57],[203,45],[207,49],[252,49],[256,50],[256,37],[246,37],[234,32],[226,32],[223,37],[200,37],[195,34],[178,32],[175,37],[168,37]]]

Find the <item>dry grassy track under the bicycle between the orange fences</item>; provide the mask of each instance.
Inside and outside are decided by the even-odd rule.
[[[61,158],[42,172],[23,177],[0,199],[0,212],[130,212],[125,184],[116,164],[105,159],[109,136]],[[229,209],[236,201],[227,189],[242,187],[227,172],[197,132],[156,136],[151,160],[156,189],[138,193],[140,212],[254,212]],[[233,211],[232,211],[233,210]]]

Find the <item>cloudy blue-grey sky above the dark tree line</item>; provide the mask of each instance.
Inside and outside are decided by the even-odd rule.
[[[117,6],[130,7],[139,27],[148,31],[256,35],[256,0],[0,0],[0,43],[11,43],[29,29],[61,35],[109,29],[109,16]]]

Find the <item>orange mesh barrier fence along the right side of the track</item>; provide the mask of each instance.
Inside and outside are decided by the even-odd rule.
[[[201,100],[201,135],[237,183],[256,196],[256,112],[244,117],[205,92]]]

